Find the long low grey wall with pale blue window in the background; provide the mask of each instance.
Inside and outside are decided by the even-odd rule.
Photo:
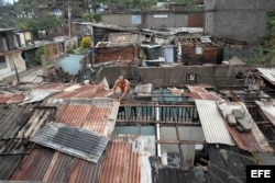
[[[140,16],[140,23],[132,22],[132,16]],[[190,16],[190,18],[189,18]],[[189,19],[188,19],[189,18]],[[129,27],[188,27],[188,25],[202,27],[204,12],[169,13],[124,13],[124,14],[102,14],[102,22],[107,24],[122,25]]]

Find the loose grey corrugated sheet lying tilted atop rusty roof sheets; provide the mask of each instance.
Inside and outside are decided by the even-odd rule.
[[[51,123],[43,126],[31,141],[97,163],[109,140],[86,129]]]

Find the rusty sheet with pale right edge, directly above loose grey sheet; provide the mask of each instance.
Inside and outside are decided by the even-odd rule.
[[[118,111],[119,102],[116,100],[67,100],[61,104],[56,114],[56,122],[84,127],[101,136],[110,137]]]

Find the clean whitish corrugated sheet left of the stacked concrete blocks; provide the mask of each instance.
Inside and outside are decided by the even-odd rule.
[[[215,101],[195,100],[200,123],[208,144],[234,146]]]

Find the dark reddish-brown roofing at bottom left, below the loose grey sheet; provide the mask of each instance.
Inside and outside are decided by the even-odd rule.
[[[96,164],[47,148],[35,148],[23,158],[10,180],[97,183],[100,171],[101,163]]]

